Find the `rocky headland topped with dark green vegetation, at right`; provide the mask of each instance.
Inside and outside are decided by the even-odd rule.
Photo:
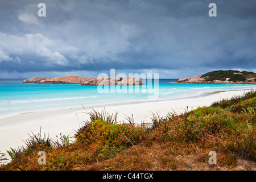
[[[196,75],[191,78],[179,78],[177,83],[191,84],[256,84],[256,73],[247,71],[212,71],[204,75]]]

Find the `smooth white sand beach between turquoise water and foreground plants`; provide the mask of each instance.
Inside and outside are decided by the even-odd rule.
[[[211,93],[201,97],[183,98],[178,100],[166,101],[151,101],[133,104],[118,104],[106,105],[105,109],[109,113],[118,112],[118,121],[126,121],[125,115],[130,116],[133,114],[136,123],[150,122],[152,113],[158,112],[160,116],[164,116],[172,110],[176,112],[183,112],[187,108],[191,110],[196,109],[198,106],[209,106],[214,101],[221,100],[222,98],[230,98],[234,95],[241,95],[248,90],[236,90],[219,93]],[[89,118],[86,111],[90,111],[90,107],[86,110],[81,107],[60,109],[60,110],[46,110],[36,111],[33,113],[24,113],[14,115],[7,118],[0,119],[0,152],[6,154],[6,150],[11,148],[18,148],[24,145],[23,140],[29,138],[28,134],[38,134],[40,127],[42,127],[42,134],[46,133],[50,138],[56,140],[61,135],[69,135],[70,137],[76,133],[75,130],[79,129],[82,121]],[[95,110],[101,111],[104,109],[102,106],[94,107]],[[6,155],[9,158],[9,155]]]

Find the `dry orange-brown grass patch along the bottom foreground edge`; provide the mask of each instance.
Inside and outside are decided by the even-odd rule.
[[[202,171],[202,170],[256,170],[256,163],[236,156],[217,153],[217,164],[210,165],[209,151],[195,144],[143,142],[130,147],[110,159],[76,166],[79,171]]]

